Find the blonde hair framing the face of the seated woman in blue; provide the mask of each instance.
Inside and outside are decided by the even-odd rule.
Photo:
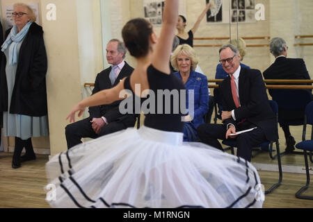
[[[182,54],[191,58],[191,69],[195,71],[199,60],[197,56],[195,56],[195,50],[191,48],[191,46],[189,46],[188,44],[181,44],[177,46],[175,51],[172,53],[172,56],[170,58],[170,63],[172,64],[172,67],[178,71],[177,57]]]

